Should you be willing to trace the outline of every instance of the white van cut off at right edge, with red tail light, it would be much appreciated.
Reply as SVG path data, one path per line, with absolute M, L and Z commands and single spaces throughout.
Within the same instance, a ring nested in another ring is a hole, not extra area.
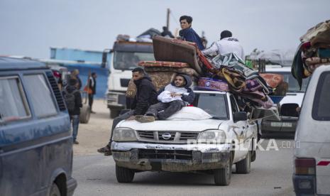
M 313 72 L 295 134 L 297 195 L 330 195 L 330 66 Z

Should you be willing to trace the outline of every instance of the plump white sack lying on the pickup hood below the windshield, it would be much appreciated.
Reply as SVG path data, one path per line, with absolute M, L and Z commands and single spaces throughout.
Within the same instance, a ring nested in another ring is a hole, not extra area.
M 204 120 L 211 119 L 209 115 L 203 109 L 199 107 L 183 107 L 180 111 L 177 111 L 172 116 L 168 117 L 167 120 L 180 121 L 180 120 Z

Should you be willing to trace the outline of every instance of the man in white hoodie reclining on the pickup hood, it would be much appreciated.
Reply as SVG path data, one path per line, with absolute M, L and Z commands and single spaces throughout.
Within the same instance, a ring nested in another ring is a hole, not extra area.
M 192 80 L 188 75 L 177 75 L 175 80 L 160 89 L 158 104 L 149 107 L 145 115 L 136 116 L 136 121 L 141 123 L 152 122 L 155 119 L 165 120 L 175 112 L 194 102 L 194 92 L 190 88 Z

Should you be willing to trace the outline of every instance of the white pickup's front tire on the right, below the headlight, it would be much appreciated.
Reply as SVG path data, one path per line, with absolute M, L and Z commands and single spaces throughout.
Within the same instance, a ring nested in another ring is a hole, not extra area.
M 226 186 L 231 183 L 231 166 L 232 160 L 231 156 L 229 157 L 229 164 L 225 168 L 214 170 L 214 183 L 220 186 Z

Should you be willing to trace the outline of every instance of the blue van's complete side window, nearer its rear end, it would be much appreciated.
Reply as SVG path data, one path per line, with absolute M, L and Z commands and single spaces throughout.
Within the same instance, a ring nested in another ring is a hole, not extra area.
M 26 89 L 31 92 L 31 102 L 35 115 L 38 117 L 53 116 L 57 114 L 52 92 L 42 74 L 24 75 Z

